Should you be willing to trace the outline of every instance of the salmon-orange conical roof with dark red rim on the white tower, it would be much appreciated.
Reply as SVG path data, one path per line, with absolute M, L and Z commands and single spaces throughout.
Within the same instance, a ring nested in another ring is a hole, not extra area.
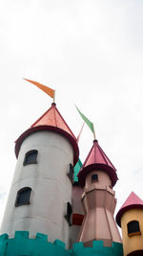
M 74 164 L 78 160 L 79 150 L 77 146 L 77 140 L 72 133 L 71 128 L 67 125 L 62 115 L 59 113 L 55 104 L 51 104 L 51 107 L 29 128 L 26 130 L 16 141 L 15 154 L 18 156 L 20 146 L 23 140 L 31 133 L 37 130 L 52 130 L 67 137 L 72 144 L 74 152 Z

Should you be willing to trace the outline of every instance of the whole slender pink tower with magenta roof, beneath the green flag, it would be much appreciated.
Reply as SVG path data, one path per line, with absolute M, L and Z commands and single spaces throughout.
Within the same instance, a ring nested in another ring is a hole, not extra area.
M 116 199 L 112 187 L 117 181 L 116 170 L 97 140 L 93 141 L 78 179 L 84 187 L 85 211 L 78 241 L 86 246 L 92 246 L 93 240 L 101 240 L 105 246 L 111 246 L 112 242 L 122 243 L 113 219 Z

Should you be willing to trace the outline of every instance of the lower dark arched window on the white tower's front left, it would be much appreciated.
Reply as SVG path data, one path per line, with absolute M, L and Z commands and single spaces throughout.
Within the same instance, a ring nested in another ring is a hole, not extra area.
M 22 188 L 17 192 L 15 206 L 30 204 L 31 188 Z

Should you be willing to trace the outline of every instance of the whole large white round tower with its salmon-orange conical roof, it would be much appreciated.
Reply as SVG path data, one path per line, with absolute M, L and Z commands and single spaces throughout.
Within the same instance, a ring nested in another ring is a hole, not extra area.
M 72 165 L 78 146 L 55 104 L 16 141 L 17 164 L 1 233 L 47 234 L 69 244 Z

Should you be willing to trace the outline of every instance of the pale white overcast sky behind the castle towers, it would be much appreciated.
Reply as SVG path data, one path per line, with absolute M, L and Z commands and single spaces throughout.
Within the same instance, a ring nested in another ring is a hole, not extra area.
M 134 191 L 143 198 L 143 1 L 0 1 L 0 220 L 16 159 L 14 141 L 51 106 L 22 78 L 56 89 L 57 108 L 75 135 L 94 123 L 117 169 L 116 209 Z M 79 143 L 84 161 L 92 132 Z

